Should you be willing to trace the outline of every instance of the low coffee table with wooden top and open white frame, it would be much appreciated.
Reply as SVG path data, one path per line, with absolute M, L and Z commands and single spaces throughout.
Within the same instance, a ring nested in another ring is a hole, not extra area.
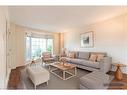
M 60 62 L 50 64 L 49 71 L 63 80 L 70 79 L 76 76 L 77 73 L 76 65 L 70 63 L 63 65 Z

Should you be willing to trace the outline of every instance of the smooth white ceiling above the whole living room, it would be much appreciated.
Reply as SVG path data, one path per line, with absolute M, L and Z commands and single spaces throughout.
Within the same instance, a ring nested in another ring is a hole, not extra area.
M 127 7 L 109 6 L 17 6 L 9 7 L 12 22 L 53 32 L 88 25 L 127 12 Z

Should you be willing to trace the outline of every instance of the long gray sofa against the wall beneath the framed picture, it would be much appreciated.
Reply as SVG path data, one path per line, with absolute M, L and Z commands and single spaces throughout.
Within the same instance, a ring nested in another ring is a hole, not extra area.
M 104 58 L 100 62 L 89 61 L 91 54 L 104 54 Z M 75 52 L 76 58 L 66 57 L 67 62 L 75 64 L 78 68 L 89 71 L 100 70 L 106 73 L 111 68 L 112 58 L 103 52 Z

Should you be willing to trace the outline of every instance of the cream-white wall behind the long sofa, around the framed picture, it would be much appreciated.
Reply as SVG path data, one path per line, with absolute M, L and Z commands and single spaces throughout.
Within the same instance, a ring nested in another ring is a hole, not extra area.
M 94 47 L 81 48 L 80 34 L 88 31 L 94 32 Z M 65 33 L 64 39 L 64 46 L 69 50 L 107 52 L 113 62 L 119 61 L 127 65 L 127 14 L 70 29 Z M 127 73 L 127 68 L 123 71 Z

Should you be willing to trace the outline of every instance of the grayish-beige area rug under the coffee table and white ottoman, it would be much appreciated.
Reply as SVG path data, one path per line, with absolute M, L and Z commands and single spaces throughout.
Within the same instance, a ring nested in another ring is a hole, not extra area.
M 38 64 L 37 66 L 42 66 L 42 64 Z M 43 67 L 43 66 L 42 66 Z M 47 68 L 45 66 L 44 68 Z M 79 78 L 83 77 L 86 74 L 89 74 L 91 72 L 83 70 L 83 69 L 77 69 L 77 76 L 72 77 L 68 80 L 62 80 L 59 77 L 55 76 L 54 74 L 50 73 L 50 80 L 49 84 L 42 83 L 37 86 L 37 89 L 43 90 L 43 89 L 79 89 Z M 21 70 L 21 82 L 18 86 L 18 89 L 34 89 L 34 85 L 32 81 L 28 78 L 28 75 L 26 73 L 26 69 Z

